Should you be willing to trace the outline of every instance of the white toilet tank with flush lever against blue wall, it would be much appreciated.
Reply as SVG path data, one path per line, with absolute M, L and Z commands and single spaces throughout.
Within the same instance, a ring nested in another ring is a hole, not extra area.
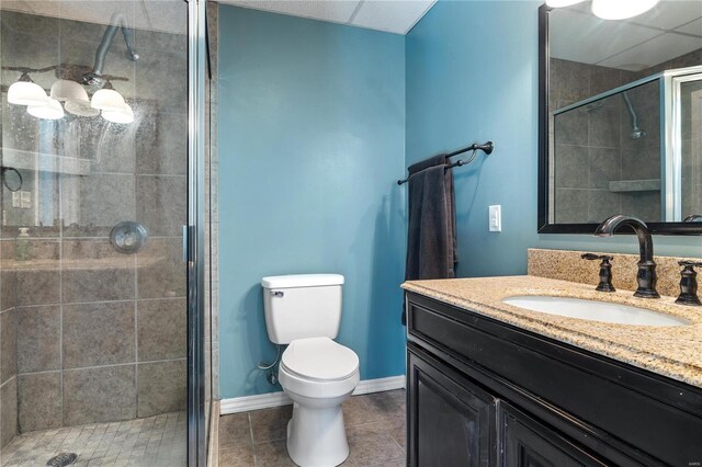
M 263 309 L 271 342 L 335 339 L 341 323 L 340 274 L 296 274 L 263 277 Z

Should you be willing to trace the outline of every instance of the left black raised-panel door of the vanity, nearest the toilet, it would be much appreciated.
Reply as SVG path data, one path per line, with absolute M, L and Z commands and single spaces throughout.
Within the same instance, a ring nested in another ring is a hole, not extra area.
M 410 466 L 495 465 L 496 412 L 489 394 L 448 365 L 412 351 L 408 385 Z

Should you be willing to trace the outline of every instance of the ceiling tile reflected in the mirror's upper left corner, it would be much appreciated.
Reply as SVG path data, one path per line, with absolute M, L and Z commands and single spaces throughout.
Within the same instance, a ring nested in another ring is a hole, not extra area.
M 548 26 L 552 57 L 584 64 L 597 64 L 660 35 L 657 30 L 601 20 L 571 9 L 554 10 Z

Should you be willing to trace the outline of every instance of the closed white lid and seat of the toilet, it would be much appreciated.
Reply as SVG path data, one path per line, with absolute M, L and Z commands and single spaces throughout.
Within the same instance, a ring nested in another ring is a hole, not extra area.
M 359 356 L 329 338 L 297 339 L 283 352 L 281 366 L 304 379 L 338 381 L 359 369 Z

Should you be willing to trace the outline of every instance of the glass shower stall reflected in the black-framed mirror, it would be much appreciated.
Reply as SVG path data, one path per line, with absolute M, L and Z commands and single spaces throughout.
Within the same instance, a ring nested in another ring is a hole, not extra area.
M 551 221 L 702 214 L 702 67 L 671 68 L 553 111 Z

